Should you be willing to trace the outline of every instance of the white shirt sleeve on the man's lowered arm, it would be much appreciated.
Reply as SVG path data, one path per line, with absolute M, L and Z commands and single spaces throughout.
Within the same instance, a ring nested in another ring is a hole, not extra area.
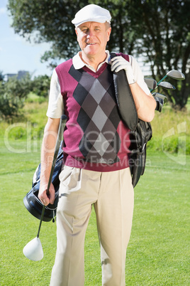
M 60 118 L 64 112 L 63 98 L 60 90 L 60 81 L 56 70 L 53 70 L 50 82 L 50 95 L 47 108 L 47 117 Z

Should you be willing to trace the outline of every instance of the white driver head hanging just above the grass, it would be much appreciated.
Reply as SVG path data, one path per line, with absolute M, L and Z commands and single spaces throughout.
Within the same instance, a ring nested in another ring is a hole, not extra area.
M 40 242 L 40 238 L 34 238 L 33 240 L 30 240 L 29 243 L 23 248 L 23 254 L 26 256 L 26 258 L 33 260 L 33 261 L 39 261 L 43 259 L 43 247 Z

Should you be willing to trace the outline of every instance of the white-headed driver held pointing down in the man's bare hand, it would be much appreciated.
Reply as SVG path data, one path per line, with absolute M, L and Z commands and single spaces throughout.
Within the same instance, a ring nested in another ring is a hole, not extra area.
M 52 159 L 52 167 L 51 167 L 51 171 L 50 171 L 50 178 L 47 184 L 47 194 L 50 190 L 50 184 L 52 182 L 52 174 L 55 168 L 55 162 L 57 159 L 57 154 L 60 148 L 60 142 L 62 141 L 62 134 L 63 131 L 65 129 L 65 125 L 67 122 L 67 116 L 66 115 L 62 115 L 62 117 L 60 118 L 60 126 L 58 129 L 58 133 L 57 133 L 57 141 L 55 144 L 55 152 L 54 152 L 54 156 Z M 26 258 L 33 260 L 33 261 L 38 261 L 38 260 L 42 260 L 43 259 L 43 247 L 42 244 L 40 242 L 40 228 L 41 228 L 41 224 L 43 221 L 43 215 L 44 215 L 44 211 L 45 211 L 45 205 L 43 206 L 43 211 L 41 214 L 41 218 L 40 218 L 40 225 L 38 228 L 38 234 L 37 237 L 34 238 L 33 240 L 30 240 L 29 243 L 27 243 L 27 245 L 23 248 L 23 254 L 26 256 Z

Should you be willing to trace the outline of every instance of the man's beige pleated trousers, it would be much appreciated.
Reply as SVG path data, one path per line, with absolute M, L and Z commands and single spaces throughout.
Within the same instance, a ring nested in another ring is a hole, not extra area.
M 125 286 L 134 205 L 130 169 L 101 173 L 68 166 L 60 174 L 51 286 L 84 286 L 84 238 L 93 204 L 101 245 L 102 285 Z

